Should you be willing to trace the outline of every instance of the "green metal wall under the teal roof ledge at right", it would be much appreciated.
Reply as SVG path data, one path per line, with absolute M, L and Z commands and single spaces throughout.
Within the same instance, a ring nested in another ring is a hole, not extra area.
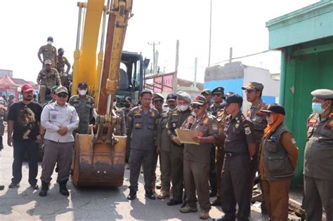
M 333 38 L 283 48 L 280 103 L 287 112 L 285 125 L 292 130 L 299 147 L 294 185 L 303 183 L 306 120 L 312 102 L 310 93 L 318 88 L 333 89 Z

